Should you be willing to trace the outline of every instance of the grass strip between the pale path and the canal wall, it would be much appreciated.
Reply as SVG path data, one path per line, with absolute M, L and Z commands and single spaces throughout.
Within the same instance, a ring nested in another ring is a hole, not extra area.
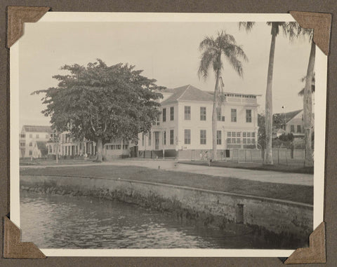
M 256 182 L 230 177 L 213 177 L 206 174 L 153 170 L 147 167 L 115 165 L 44 167 L 22 169 L 20 170 L 20 174 L 58 174 L 133 179 L 137 181 L 190 186 L 197 189 L 290 200 L 299 203 L 313 203 L 312 186 Z

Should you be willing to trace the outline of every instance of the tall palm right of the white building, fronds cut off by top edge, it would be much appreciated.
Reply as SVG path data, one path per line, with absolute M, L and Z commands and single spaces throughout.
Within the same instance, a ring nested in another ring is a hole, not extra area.
M 249 32 L 255 22 L 239 22 L 239 29 L 244 27 Z M 273 164 L 272 160 L 272 74 L 274 69 L 274 55 L 276 36 L 279 34 L 279 28 L 282 27 L 285 35 L 292 40 L 296 36 L 296 22 L 267 22 L 271 26 L 272 40 L 270 42 L 269 64 L 267 71 L 267 89 L 265 90 L 265 159 L 264 164 Z

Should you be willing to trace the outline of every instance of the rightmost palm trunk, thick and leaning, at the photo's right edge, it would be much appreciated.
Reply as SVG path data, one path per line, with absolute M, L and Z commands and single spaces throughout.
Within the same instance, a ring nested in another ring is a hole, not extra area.
M 316 45 L 312 41 L 307 76 L 305 78 L 305 88 L 303 96 L 303 119 L 304 119 L 304 139 L 305 139 L 305 167 L 312 167 L 312 76 L 314 75 Z

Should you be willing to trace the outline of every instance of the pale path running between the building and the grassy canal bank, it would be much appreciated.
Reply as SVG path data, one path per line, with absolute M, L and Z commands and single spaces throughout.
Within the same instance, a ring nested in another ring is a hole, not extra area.
M 71 166 L 89 166 L 89 165 L 121 165 L 121 166 L 139 166 L 149 167 L 151 169 L 170 170 L 174 172 L 191 172 L 197 174 L 207 174 L 218 177 L 232 177 L 237 179 L 247 179 L 259 182 L 270 182 L 277 184 L 300 184 L 313 186 L 313 174 L 299 174 L 290 172 L 275 172 L 271 170 L 244 170 L 230 167 L 208 167 L 201 165 L 175 164 L 173 160 L 116 160 L 105 163 L 81 163 L 72 165 L 39 165 L 22 166 L 31 167 L 71 167 Z

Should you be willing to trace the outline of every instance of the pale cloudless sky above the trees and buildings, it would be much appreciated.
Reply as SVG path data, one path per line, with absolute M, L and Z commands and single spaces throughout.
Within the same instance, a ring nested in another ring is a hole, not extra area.
M 20 128 L 50 124 L 50 118 L 41 114 L 43 95 L 31 93 L 56 86 L 53 75 L 67 74 L 60 70 L 64 64 L 86 65 L 100 58 L 108 65 L 136 65 L 144 76 L 167 88 L 192 84 L 201 90 L 214 90 L 212 69 L 206 80 L 197 75 L 199 43 L 220 30 L 232 34 L 249 58 L 243 64 L 243 78 L 224 60 L 225 92 L 261 95 L 258 104 L 263 111 L 271 40 L 265 22 L 256 23 L 251 32 L 239 30 L 237 22 L 37 22 L 25 24 L 19 43 Z M 277 36 L 274 113 L 303 108 L 298 91 L 304 87 L 300 78 L 305 76 L 309 54 L 308 39 L 290 42 L 282 32 Z

